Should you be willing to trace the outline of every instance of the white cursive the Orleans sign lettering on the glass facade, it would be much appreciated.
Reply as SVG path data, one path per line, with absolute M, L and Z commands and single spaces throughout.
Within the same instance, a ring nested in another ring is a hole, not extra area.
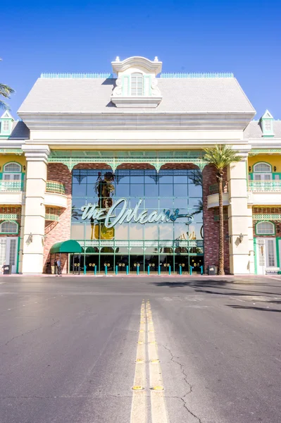
M 122 209 L 116 215 L 115 209 L 120 207 L 120 204 L 123 204 Z M 187 225 L 192 223 L 193 216 L 190 214 L 180 214 L 179 209 L 175 209 L 173 212 L 170 210 L 163 209 L 162 212 L 157 212 L 154 210 L 149 214 L 147 209 L 139 212 L 139 207 L 142 204 L 142 199 L 139 200 L 134 209 L 127 208 L 127 200 L 125 198 L 120 198 L 113 204 L 110 209 L 100 209 L 98 203 L 87 204 L 87 206 L 81 207 L 83 212 L 82 220 L 90 219 L 91 221 L 104 221 L 104 226 L 106 228 L 113 228 L 117 223 L 131 222 L 135 223 L 163 223 L 168 221 L 176 221 L 180 218 L 185 218 Z

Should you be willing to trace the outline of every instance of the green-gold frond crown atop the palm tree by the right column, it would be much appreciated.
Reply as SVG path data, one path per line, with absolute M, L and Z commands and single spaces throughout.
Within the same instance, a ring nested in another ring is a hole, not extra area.
M 242 157 L 239 156 L 239 152 L 227 145 L 216 145 L 216 147 L 213 148 L 206 148 L 204 152 L 204 160 L 207 161 L 208 164 L 213 164 L 218 171 L 223 171 L 229 164 L 242 160 Z

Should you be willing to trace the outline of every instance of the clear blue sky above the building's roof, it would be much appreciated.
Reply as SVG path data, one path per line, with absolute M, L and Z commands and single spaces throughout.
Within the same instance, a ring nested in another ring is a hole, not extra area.
M 111 72 L 115 56 L 163 72 L 233 72 L 281 119 L 281 1 L 12 1 L 1 5 L 0 80 L 12 114 L 42 72 Z

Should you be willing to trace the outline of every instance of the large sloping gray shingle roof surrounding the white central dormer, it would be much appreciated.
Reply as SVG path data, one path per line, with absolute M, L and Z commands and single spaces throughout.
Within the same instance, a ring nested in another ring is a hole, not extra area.
M 39 78 L 21 113 L 255 113 L 236 78 L 157 78 L 162 101 L 156 109 L 116 108 L 115 79 Z

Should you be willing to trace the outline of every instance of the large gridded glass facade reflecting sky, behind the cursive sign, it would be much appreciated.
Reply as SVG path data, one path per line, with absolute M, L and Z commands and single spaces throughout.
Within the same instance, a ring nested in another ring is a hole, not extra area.
M 149 267 L 184 273 L 189 266 L 198 271 L 204 257 L 201 181 L 197 170 L 125 169 L 113 175 L 108 169 L 74 169 L 71 238 L 83 254 L 70 257 L 70 271 L 77 266 L 87 272 L 147 272 Z M 104 220 L 84 219 L 82 207 L 96 204 L 96 212 L 104 209 L 106 215 L 118 200 L 109 222 L 130 209 L 135 210 L 131 219 L 111 228 Z

